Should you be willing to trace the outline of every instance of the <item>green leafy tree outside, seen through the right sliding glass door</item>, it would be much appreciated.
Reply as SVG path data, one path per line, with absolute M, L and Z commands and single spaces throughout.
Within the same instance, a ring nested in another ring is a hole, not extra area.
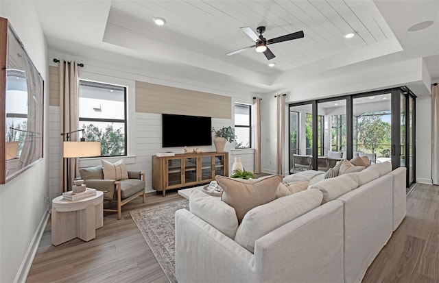
M 391 138 L 390 123 L 383 122 L 381 115 L 359 116 L 357 121 L 357 151 L 367 149 L 376 153 L 388 149 Z

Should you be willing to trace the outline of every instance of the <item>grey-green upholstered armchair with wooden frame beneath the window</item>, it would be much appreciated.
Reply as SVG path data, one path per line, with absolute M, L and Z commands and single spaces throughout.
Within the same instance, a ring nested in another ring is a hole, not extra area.
M 145 173 L 128 171 L 126 180 L 104 180 L 102 166 L 80 169 L 81 178 L 88 188 L 95 188 L 104 192 L 104 200 L 117 202 L 117 209 L 104 208 L 104 211 L 117 212 L 117 219 L 121 219 L 121 207 L 136 197 L 142 197 L 145 202 Z M 111 207 L 111 204 L 110 204 Z

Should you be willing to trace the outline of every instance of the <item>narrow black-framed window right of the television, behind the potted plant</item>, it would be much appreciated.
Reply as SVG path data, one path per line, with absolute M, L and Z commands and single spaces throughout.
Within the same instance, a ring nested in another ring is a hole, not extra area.
M 248 149 L 252 147 L 252 108 L 245 104 L 235 104 L 235 135 L 236 149 Z

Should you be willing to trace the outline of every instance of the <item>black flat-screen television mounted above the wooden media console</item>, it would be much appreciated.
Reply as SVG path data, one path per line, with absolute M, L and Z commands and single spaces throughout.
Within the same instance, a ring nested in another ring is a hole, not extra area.
M 211 117 L 162 114 L 162 147 L 212 145 L 211 129 Z

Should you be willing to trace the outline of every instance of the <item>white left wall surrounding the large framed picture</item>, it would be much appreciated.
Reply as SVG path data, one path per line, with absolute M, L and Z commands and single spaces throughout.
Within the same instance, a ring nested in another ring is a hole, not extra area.
M 7 18 L 45 81 L 44 129 L 48 129 L 47 44 L 32 1 L 0 1 Z M 3 42 L 1 42 L 3 44 Z M 44 140 L 48 139 L 47 130 Z M 33 167 L 0 186 L 0 282 L 24 281 L 44 229 L 49 205 L 49 147 Z

